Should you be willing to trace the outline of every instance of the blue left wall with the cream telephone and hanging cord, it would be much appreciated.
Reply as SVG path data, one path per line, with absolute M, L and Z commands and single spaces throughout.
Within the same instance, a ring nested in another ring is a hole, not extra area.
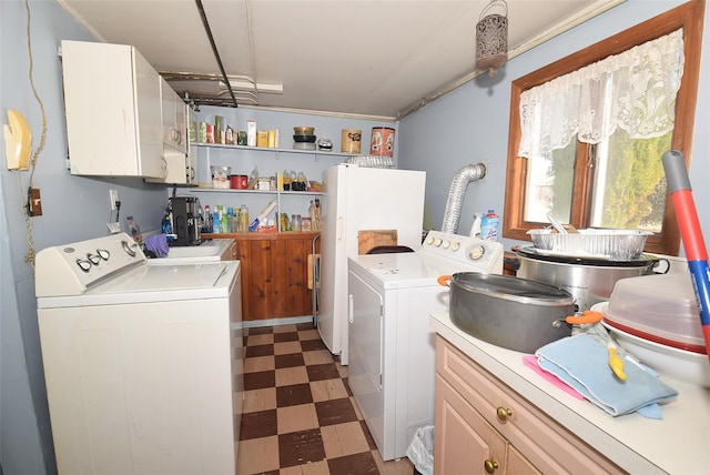
M 67 133 L 58 47 L 62 39 L 91 41 L 93 38 L 58 3 L 30 1 L 29 4 L 32 75 L 47 121 L 45 144 L 37 160 L 33 176 L 33 185 L 41 191 L 43 212 L 42 216 L 32 220 L 33 249 L 39 251 L 51 245 L 105 235 L 110 221 L 109 188 L 119 191 L 124 230 L 128 214 L 133 214 L 144 228 L 150 228 L 153 222 L 159 223 L 161 210 L 166 203 L 164 185 L 144 184 L 142 180 L 73 176 L 67 170 Z M 29 81 L 26 2 L 1 1 L 0 22 L 2 123 L 7 123 L 8 109 L 20 111 L 32 129 L 32 145 L 37 148 L 42 134 L 42 113 Z M 102 131 L 88 131 L 97 132 Z M 54 473 L 34 280 L 32 266 L 24 261 L 29 244 L 22 206 L 30 173 L 8 171 L 4 141 L 2 150 L 0 462 L 6 474 Z M 18 179 L 22 182 L 21 188 Z

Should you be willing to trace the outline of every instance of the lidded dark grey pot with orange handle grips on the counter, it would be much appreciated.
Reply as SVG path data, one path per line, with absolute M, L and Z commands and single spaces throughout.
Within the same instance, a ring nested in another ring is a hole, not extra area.
M 443 279 L 443 277 L 442 277 Z M 572 295 L 510 275 L 462 272 L 449 277 L 449 317 L 471 336 L 524 353 L 571 334 Z

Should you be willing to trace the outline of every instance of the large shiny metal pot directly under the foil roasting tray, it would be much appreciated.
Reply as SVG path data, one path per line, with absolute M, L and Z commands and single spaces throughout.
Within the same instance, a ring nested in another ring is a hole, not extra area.
M 518 247 L 516 254 L 517 276 L 567 290 L 580 312 L 608 301 L 620 279 L 653 274 L 659 263 L 658 257 L 647 254 L 631 261 L 542 254 L 535 247 Z

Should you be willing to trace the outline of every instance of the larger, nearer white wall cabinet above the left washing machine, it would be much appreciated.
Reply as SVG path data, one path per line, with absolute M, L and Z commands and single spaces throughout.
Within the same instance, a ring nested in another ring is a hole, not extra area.
M 62 41 L 71 173 L 165 178 L 161 78 L 135 48 Z

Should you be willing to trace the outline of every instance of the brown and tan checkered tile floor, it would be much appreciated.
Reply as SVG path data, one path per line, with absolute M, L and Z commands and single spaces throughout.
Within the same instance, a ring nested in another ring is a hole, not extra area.
M 311 323 L 244 330 L 239 475 L 412 475 L 383 462 L 347 386 L 347 366 Z

